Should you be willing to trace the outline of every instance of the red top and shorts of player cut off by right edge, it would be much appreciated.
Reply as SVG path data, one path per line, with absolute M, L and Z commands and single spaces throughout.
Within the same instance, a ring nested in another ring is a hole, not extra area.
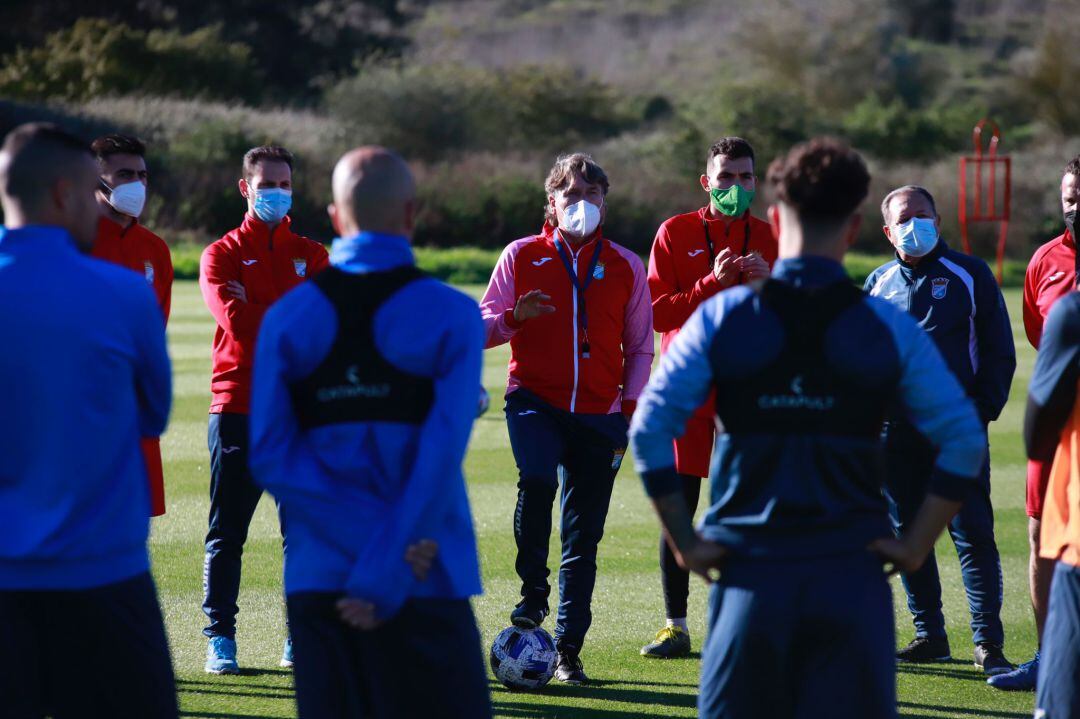
M 1024 331 L 1036 350 L 1042 337 L 1042 323 L 1050 308 L 1072 291 L 1076 282 L 1077 246 L 1066 230 L 1035 250 L 1024 273 Z M 1040 518 L 1050 481 L 1051 463 L 1027 462 L 1027 515 Z

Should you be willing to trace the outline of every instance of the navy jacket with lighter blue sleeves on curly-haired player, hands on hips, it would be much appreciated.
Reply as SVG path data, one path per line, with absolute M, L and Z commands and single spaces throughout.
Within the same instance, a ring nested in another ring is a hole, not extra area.
M 822 257 L 781 260 L 773 279 L 806 290 L 848 282 L 838 262 Z M 730 426 L 716 438 L 701 530 L 737 554 L 825 556 L 890 537 L 880 426 L 893 403 L 940 448 L 931 491 L 964 496 L 986 458 L 986 435 L 941 354 L 908 315 L 861 296 L 827 325 L 816 369 L 808 370 L 832 378 L 829 396 L 812 396 L 811 375 L 804 378 L 797 360 L 792 363 L 807 348 L 787 344 L 785 322 L 791 317 L 779 316 L 747 287 L 720 293 L 687 321 L 631 426 L 634 460 L 650 494 L 677 490 L 672 440 L 715 384 L 719 418 Z M 748 382 L 768 382 L 770 368 L 785 362 L 793 376 L 781 377 L 775 392 L 743 396 Z M 842 431 L 812 421 L 771 423 L 770 411 L 785 408 L 806 416 L 821 409 Z M 747 428 L 740 426 L 744 417 Z

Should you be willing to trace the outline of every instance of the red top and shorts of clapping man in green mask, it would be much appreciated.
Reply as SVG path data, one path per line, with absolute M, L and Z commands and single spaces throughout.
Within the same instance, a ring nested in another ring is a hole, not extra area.
M 725 247 L 735 255 L 757 252 L 771 268 L 779 252 L 768 222 L 750 213 L 740 219 L 714 220 L 708 207 L 676 215 L 657 230 L 649 256 L 649 291 L 652 326 L 662 333 L 660 352 L 678 335 L 698 306 L 720 291 L 713 274 L 713 259 Z M 707 228 L 707 239 L 706 239 Z M 708 241 L 713 249 L 710 252 Z M 712 255 L 712 257 L 711 257 Z M 713 452 L 713 402 L 710 399 L 687 422 L 686 433 L 675 440 L 675 469 L 696 477 L 708 475 Z

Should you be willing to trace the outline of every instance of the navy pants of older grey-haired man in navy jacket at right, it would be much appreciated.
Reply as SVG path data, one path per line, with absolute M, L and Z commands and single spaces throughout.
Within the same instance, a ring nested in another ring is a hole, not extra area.
M 886 494 L 889 514 L 897 533 L 904 531 L 927 498 L 935 455 L 921 437 L 910 436 L 912 430 L 892 429 L 886 442 Z M 971 610 L 971 630 L 975 643 L 1004 645 L 1001 626 L 1001 602 L 1004 588 L 1001 559 L 994 540 L 994 507 L 990 504 L 990 466 L 983 467 L 978 483 L 972 487 L 963 505 L 948 525 L 949 535 L 960 557 L 960 572 Z M 942 612 L 942 587 L 937 560 L 931 552 L 926 564 L 910 574 L 903 574 L 907 607 L 915 621 L 918 636 L 944 638 L 945 615 Z

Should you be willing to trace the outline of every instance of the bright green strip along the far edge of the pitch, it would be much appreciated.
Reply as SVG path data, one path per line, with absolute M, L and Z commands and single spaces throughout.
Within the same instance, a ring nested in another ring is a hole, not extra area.
M 176 245 L 173 250 L 173 270 L 177 280 L 195 280 L 199 277 L 199 255 L 202 245 L 186 242 Z M 424 272 L 455 285 L 485 285 L 491 276 L 491 270 L 499 261 L 499 249 L 483 247 L 417 247 L 417 264 Z M 642 258 L 648 261 L 648 258 Z M 864 255 L 849 253 L 845 258 L 845 267 L 851 280 L 862 284 L 866 275 L 876 268 L 889 261 L 886 255 Z M 994 266 L 991 264 L 991 269 Z M 1004 286 L 1021 287 L 1024 284 L 1026 264 L 1018 260 L 1005 260 Z

